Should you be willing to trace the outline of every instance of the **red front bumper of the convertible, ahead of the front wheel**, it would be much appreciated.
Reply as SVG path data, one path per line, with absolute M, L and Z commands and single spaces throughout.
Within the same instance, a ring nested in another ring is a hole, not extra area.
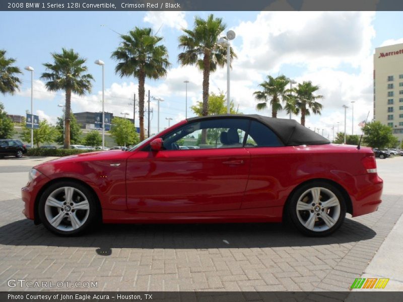
M 28 182 L 25 187 L 21 189 L 22 201 L 24 202 L 24 209 L 22 213 L 28 219 L 35 219 L 35 200 L 38 193 L 43 186 L 49 182 L 50 179 L 43 174 L 39 174 L 33 181 Z

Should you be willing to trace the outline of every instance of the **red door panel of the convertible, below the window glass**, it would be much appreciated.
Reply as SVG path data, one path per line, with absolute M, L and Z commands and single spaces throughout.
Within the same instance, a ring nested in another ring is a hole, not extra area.
M 139 212 L 239 209 L 250 155 L 245 148 L 140 151 L 127 161 L 127 206 Z

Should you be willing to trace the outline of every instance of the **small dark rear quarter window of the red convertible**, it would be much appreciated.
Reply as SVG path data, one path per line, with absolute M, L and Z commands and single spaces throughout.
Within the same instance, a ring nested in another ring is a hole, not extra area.
M 245 147 L 278 147 L 284 146 L 277 135 L 267 126 L 260 122 L 250 123 L 249 134 Z

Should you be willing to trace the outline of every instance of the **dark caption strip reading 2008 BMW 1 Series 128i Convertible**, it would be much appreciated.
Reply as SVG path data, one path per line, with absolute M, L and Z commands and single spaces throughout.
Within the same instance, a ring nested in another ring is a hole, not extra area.
M 402 11 L 392 0 L 20 0 L 0 11 Z

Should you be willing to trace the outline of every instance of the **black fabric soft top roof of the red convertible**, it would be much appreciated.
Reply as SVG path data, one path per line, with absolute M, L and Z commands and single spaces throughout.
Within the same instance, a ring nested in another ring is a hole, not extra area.
M 272 129 L 286 146 L 330 143 L 330 141 L 322 135 L 315 133 L 292 119 L 273 118 L 258 114 L 229 114 L 192 117 L 188 118 L 187 121 L 195 122 L 217 118 L 245 118 L 259 121 Z

